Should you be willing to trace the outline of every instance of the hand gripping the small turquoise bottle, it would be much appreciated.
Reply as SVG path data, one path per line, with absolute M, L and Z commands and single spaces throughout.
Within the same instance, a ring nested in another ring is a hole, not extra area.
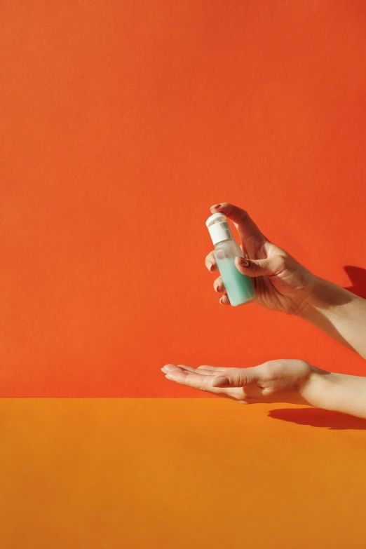
M 301 313 L 312 299 L 316 276 L 272 244 L 244 210 L 225 202 L 212 206 L 211 211 L 223 213 L 236 225 L 246 259 L 236 258 L 236 267 L 240 273 L 253 278 L 257 303 L 272 311 Z M 210 272 L 217 271 L 213 251 L 206 257 L 205 265 Z M 225 291 L 221 277 L 215 280 L 214 287 L 217 292 Z M 220 303 L 230 304 L 227 294 Z

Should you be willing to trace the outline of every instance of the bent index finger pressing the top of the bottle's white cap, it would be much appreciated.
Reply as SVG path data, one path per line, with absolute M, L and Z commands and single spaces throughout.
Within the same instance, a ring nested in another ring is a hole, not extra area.
M 251 249 L 253 251 L 267 241 L 267 238 L 259 230 L 259 227 L 252 220 L 248 212 L 238 208 L 238 206 L 223 202 L 222 204 L 211 206 L 210 209 L 214 213 L 223 213 L 231 219 L 238 229 L 245 250 L 248 250 L 249 253 Z

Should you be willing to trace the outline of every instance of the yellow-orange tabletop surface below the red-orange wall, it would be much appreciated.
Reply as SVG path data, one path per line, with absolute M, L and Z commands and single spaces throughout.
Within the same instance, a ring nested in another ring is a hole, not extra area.
M 219 399 L 0 407 L 1 549 L 366 547 L 366 421 Z

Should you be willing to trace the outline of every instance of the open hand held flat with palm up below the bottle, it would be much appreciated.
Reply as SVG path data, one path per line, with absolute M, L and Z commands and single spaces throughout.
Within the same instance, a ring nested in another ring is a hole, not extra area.
M 168 364 L 161 370 L 170 381 L 243 404 L 289 402 L 317 406 L 320 379 L 332 375 L 303 360 L 271 360 L 250 368 L 195 369 Z

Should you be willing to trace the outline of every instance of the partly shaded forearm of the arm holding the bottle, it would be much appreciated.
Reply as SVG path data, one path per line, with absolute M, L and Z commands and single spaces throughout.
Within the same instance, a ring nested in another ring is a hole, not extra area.
M 366 358 L 366 300 L 316 279 L 313 297 L 299 316 Z

